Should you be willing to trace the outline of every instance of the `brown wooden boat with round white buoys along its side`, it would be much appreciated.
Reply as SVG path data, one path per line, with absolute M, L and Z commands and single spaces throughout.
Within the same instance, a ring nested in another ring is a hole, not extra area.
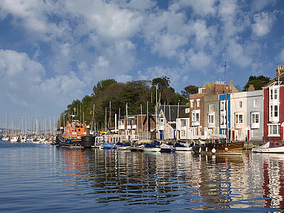
M 225 140 L 209 140 L 195 143 L 192 151 L 197 154 L 216 154 L 216 155 L 241 155 L 243 153 L 244 142 L 226 141 Z

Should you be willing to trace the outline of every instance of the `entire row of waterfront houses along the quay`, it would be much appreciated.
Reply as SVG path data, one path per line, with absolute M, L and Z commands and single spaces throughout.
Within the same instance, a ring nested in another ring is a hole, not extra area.
M 250 85 L 239 92 L 232 81 L 204 84 L 187 105 L 160 105 L 155 115 L 121 116 L 119 133 L 152 140 L 283 141 L 283 72 L 278 65 L 275 79 L 262 90 Z

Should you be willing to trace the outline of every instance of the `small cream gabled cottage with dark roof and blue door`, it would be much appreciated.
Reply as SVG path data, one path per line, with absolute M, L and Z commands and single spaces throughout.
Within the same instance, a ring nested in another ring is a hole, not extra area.
M 158 111 L 158 139 L 171 140 L 176 138 L 176 119 L 186 105 L 161 105 Z

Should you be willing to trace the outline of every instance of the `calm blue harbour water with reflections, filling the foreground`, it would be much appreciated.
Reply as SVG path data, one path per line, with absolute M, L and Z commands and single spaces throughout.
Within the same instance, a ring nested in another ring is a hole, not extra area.
M 0 141 L 0 212 L 280 212 L 283 198 L 284 155 Z

